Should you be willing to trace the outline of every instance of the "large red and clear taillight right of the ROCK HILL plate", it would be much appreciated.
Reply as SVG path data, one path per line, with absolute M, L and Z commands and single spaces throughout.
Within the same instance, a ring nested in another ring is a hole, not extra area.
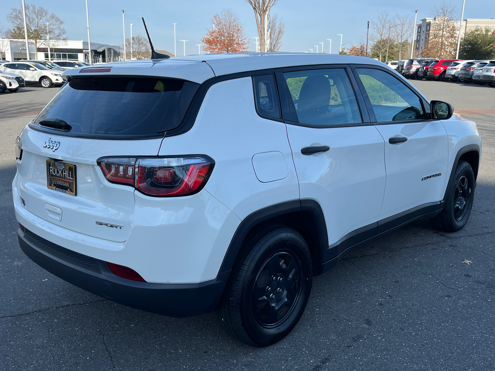
M 104 157 L 97 161 L 112 183 L 134 185 L 152 196 L 185 196 L 199 192 L 213 171 L 204 155 L 181 157 Z

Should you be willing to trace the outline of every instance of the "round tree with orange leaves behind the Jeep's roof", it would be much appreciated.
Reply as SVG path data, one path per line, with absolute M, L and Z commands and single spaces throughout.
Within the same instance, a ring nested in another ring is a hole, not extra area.
M 237 53 L 247 51 L 249 42 L 237 15 L 223 9 L 211 19 L 212 28 L 201 39 L 206 53 Z

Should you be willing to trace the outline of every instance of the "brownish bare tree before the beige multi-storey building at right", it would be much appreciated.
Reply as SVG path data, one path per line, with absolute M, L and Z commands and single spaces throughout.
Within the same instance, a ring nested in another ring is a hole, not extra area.
M 449 59 L 455 56 L 459 24 L 456 22 L 457 10 L 451 2 L 442 1 L 433 8 L 434 21 L 421 56 Z M 428 36 L 428 35 L 427 35 Z

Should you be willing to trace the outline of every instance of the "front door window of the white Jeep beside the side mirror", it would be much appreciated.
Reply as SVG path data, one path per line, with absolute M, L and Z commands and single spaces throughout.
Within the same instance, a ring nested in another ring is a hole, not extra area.
M 391 74 L 374 68 L 356 68 L 377 122 L 424 120 L 419 97 Z

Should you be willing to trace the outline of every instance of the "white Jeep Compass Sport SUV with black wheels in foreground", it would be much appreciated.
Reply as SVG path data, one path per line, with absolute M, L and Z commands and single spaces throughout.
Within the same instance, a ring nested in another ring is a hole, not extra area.
M 469 218 L 476 125 L 371 58 L 207 54 L 64 74 L 16 142 L 19 243 L 116 302 L 216 310 L 266 346 L 351 248 Z

